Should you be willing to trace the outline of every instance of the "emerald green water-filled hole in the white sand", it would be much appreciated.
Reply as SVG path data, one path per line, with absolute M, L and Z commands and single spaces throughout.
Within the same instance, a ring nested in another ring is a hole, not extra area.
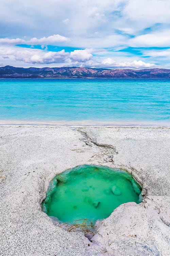
M 63 223 L 72 224 L 85 218 L 94 225 L 120 204 L 141 200 L 141 187 L 128 172 L 82 165 L 54 177 L 42 209 Z

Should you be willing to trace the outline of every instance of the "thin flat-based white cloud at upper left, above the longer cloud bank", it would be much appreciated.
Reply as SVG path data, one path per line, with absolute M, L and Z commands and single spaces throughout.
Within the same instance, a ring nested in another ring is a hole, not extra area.
M 31 44 L 31 45 L 56 45 L 60 42 L 69 42 L 70 39 L 64 37 L 63 35 L 54 34 L 50 35 L 49 37 L 42 37 L 40 39 L 34 37 L 30 40 L 16 38 L 16 39 L 9 39 L 9 38 L 0 38 L 0 44 L 3 45 L 16 45 L 16 44 Z

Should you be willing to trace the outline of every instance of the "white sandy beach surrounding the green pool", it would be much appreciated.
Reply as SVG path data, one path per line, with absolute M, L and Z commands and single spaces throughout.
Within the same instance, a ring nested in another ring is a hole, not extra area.
M 0 255 L 169 256 L 169 155 L 169 127 L 1 126 Z M 145 197 L 99 222 L 92 242 L 41 211 L 55 174 L 82 164 L 131 172 Z

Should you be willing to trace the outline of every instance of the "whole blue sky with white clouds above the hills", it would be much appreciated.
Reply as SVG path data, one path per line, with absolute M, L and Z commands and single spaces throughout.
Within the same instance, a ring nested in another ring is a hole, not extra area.
M 0 0 L 0 66 L 170 68 L 170 0 Z

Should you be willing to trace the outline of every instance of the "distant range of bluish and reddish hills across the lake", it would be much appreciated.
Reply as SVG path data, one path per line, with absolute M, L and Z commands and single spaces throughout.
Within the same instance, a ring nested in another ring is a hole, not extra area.
M 15 68 L 0 67 L 0 78 L 170 78 L 170 69 Z

